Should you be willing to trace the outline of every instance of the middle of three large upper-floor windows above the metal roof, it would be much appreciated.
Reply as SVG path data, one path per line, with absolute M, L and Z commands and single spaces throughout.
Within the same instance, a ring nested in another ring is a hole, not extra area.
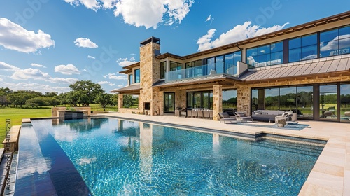
M 290 39 L 288 41 L 288 57 L 289 62 L 317 58 L 317 34 Z

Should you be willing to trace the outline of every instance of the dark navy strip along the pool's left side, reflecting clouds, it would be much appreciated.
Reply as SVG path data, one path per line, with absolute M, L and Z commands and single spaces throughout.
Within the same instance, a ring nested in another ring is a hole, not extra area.
M 15 195 L 92 195 L 51 134 L 22 127 Z

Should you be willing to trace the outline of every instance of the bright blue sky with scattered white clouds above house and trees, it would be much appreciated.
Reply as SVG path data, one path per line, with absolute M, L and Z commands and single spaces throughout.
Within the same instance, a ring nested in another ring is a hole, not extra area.
M 2 0 L 0 87 L 67 92 L 92 80 L 127 85 L 139 43 L 189 55 L 348 11 L 350 1 Z

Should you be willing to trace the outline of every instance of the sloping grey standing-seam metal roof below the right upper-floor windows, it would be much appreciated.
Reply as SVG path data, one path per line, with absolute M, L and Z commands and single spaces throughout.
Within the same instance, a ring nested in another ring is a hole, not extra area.
M 350 71 L 350 55 L 339 55 L 303 62 L 249 69 L 249 71 L 239 77 L 239 79 L 247 82 L 254 80 L 273 80 L 278 78 L 308 76 L 318 73 L 334 73 L 337 71 Z

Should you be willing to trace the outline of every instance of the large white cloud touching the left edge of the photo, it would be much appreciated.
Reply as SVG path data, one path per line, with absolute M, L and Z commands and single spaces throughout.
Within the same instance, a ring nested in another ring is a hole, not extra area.
M 49 34 L 41 30 L 37 34 L 28 31 L 7 18 L 0 18 L 0 32 L 0 45 L 10 50 L 29 53 L 55 46 L 55 41 Z

